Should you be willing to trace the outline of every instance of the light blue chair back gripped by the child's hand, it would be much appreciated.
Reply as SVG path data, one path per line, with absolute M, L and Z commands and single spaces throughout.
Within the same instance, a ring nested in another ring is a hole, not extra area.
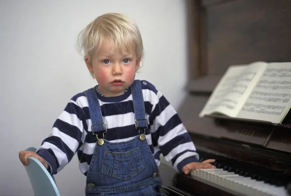
M 36 151 L 36 148 L 30 147 L 27 150 Z M 60 196 L 60 192 L 45 166 L 36 158 L 28 157 L 29 164 L 25 166 L 27 175 L 32 184 L 35 196 Z

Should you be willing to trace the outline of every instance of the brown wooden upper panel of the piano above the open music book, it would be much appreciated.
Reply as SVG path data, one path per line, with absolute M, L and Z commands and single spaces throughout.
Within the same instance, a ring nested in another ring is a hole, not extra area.
M 203 75 L 221 75 L 233 64 L 290 60 L 290 0 L 201 0 L 200 5 Z

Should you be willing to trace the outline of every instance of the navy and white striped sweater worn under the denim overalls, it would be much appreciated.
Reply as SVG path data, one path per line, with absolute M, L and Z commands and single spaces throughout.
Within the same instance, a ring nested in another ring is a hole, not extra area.
M 199 159 L 194 143 L 162 93 L 148 81 L 143 80 L 141 84 L 148 121 L 146 141 L 154 159 L 160 165 L 162 153 L 165 160 L 171 161 L 174 169 L 181 172 L 184 165 Z M 104 139 L 124 142 L 138 135 L 130 89 L 116 97 L 104 97 L 97 92 L 97 97 L 107 125 Z M 97 142 L 91 125 L 88 101 L 81 92 L 70 99 L 53 124 L 51 134 L 37 149 L 37 154 L 49 163 L 51 174 L 60 172 L 76 153 L 81 172 L 87 174 Z

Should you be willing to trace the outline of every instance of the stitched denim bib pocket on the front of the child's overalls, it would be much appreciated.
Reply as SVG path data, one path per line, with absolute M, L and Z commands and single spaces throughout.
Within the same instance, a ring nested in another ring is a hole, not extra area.
M 129 180 L 146 168 L 138 147 L 126 152 L 105 150 L 101 173 L 121 180 Z

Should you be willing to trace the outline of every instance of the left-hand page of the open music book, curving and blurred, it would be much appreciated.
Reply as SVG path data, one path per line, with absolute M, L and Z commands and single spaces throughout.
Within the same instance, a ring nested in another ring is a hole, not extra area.
M 236 117 L 266 66 L 264 62 L 230 66 L 211 93 L 199 117 L 214 113 Z

